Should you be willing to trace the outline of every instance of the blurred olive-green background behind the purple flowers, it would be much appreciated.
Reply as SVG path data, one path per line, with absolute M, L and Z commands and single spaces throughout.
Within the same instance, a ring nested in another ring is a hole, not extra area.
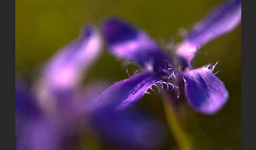
M 178 34 L 181 28 L 192 27 L 220 2 L 222 1 L 16 1 L 16 74 L 28 82 L 31 81 L 29 79 L 37 78 L 35 72 L 38 72 L 38 67 L 59 48 L 76 38 L 84 25 L 99 26 L 105 17 L 123 17 L 161 44 L 170 39 L 181 40 Z M 200 130 L 196 131 L 198 133 L 194 138 L 198 141 L 198 149 L 205 149 L 205 143 L 211 145 L 207 149 L 240 149 L 241 25 L 228 35 L 211 41 L 201 51 L 208 55 L 197 55 L 194 67 L 219 61 L 218 70 L 223 71 L 217 76 L 224 82 L 230 97 L 218 114 L 197 114 L 198 119 L 195 121 L 200 125 Z M 112 84 L 127 78 L 121 64 L 122 61 L 104 50 L 100 59 L 86 74 L 84 83 L 106 80 Z M 146 95 L 137 105 L 149 110 L 166 124 L 160 96 Z M 91 149 L 104 149 L 104 146 L 94 145 Z M 170 133 L 162 149 L 178 149 Z

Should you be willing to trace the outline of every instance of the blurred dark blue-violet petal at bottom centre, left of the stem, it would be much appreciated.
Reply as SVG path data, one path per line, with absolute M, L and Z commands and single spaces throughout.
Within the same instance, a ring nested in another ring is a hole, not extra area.
M 159 121 L 135 109 L 99 111 L 92 124 L 104 143 L 120 149 L 157 149 L 166 132 Z

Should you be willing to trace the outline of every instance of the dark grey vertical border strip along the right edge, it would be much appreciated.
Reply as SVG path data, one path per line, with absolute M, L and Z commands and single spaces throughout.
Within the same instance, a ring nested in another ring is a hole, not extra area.
M 246 3 L 245 3 L 246 2 Z M 250 4 L 251 2 L 251 4 Z M 242 121 L 241 140 L 242 149 L 255 149 L 255 106 L 256 101 L 252 96 L 255 93 L 253 82 L 255 65 L 255 1 L 242 0 Z M 249 18 L 250 17 L 250 18 Z M 248 18 L 248 19 L 246 19 Z M 254 30 L 253 30 L 254 29 Z M 249 71 L 250 70 L 250 71 Z M 251 97 L 252 96 L 252 97 Z

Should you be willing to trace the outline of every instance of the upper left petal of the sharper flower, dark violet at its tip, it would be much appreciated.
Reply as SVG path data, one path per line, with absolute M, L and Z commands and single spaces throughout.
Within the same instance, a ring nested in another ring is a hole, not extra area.
M 171 62 L 150 37 L 121 19 L 105 20 L 102 32 L 110 52 L 116 57 L 135 61 L 151 71 L 163 67 L 164 60 Z

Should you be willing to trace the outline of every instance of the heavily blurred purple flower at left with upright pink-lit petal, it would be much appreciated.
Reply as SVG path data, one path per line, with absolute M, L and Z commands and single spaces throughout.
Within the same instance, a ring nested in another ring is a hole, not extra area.
M 99 32 L 87 26 L 46 64 L 33 90 L 16 82 L 16 149 L 63 149 L 63 140 L 77 133 L 86 119 L 78 106 L 89 100 L 75 100 L 76 88 L 100 50 Z

